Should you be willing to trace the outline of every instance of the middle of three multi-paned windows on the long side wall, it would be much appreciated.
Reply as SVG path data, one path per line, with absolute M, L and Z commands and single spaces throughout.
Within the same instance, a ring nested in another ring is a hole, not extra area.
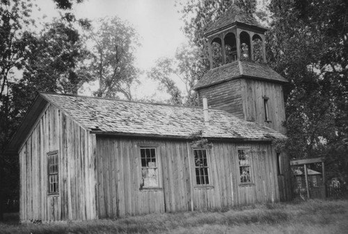
M 209 185 L 207 150 L 194 149 L 193 154 L 195 157 L 196 184 Z

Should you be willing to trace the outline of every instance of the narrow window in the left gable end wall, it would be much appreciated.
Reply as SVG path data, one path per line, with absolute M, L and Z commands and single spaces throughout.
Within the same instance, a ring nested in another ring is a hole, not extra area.
M 48 193 L 58 193 L 58 151 L 48 153 Z

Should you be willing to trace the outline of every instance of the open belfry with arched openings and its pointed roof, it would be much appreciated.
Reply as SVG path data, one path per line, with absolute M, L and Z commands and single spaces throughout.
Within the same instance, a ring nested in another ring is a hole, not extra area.
M 210 68 L 237 60 L 266 63 L 265 31 L 267 29 L 260 26 L 252 16 L 232 4 L 205 33 L 209 42 Z M 219 64 L 216 60 L 223 62 Z

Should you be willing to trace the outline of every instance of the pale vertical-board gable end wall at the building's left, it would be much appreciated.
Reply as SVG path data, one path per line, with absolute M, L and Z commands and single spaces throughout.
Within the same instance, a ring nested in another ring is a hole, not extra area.
M 20 219 L 95 219 L 95 135 L 48 105 L 19 151 Z M 58 151 L 59 193 L 48 194 L 47 153 Z

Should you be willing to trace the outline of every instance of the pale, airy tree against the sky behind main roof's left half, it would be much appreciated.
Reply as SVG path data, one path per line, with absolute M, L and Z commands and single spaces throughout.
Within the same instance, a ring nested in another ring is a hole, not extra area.
M 90 32 L 93 40 L 91 71 L 99 81 L 98 97 L 119 97 L 131 100 L 130 87 L 139 69 L 134 67 L 134 52 L 139 37 L 132 26 L 118 17 L 100 19 Z

